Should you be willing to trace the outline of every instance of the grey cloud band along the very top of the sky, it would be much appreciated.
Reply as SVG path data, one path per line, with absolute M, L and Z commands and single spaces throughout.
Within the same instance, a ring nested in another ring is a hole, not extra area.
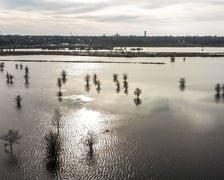
M 93 1 L 94 2 L 94 1 Z M 11 9 L 31 10 L 31 11 L 52 11 L 57 13 L 88 13 L 105 8 L 116 8 L 117 6 L 135 6 L 142 9 L 156 9 L 176 4 L 186 3 L 203 3 L 224 5 L 223 0 L 109 0 L 97 3 L 80 2 L 49 2 L 45 0 L 1 0 L 0 6 Z M 116 9 L 115 9 L 116 10 Z

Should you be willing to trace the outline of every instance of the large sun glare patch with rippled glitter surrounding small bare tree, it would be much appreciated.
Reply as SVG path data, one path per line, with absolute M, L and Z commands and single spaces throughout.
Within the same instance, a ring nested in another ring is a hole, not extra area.
M 112 129 L 116 119 L 117 117 L 110 113 L 89 107 L 68 113 L 61 131 L 61 169 L 66 171 L 65 173 L 85 174 L 89 173 L 88 168 L 97 166 L 100 161 L 99 153 L 116 139 L 110 139 L 113 137 Z M 107 133 L 105 130 L 108 130 Z M 89 143 L 91 138 L 92 147 Z

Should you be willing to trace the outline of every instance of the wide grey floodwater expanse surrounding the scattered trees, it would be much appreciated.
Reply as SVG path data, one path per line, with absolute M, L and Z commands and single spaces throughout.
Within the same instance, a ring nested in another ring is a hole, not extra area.
M 124 61 L 125 58 L 7 56 L 0 60 Z M 20 144 L 0 141 L 0 179 L 223 179 L 223 58 L 131 58 L 164 65 L 5 62 L 0 72 L 0 134 L 18 129 Z M 24 69 L 29 67 L 29 84 Z M 68 76 L 58 98 L 57 78 Z M 6 83 L 6 72 L 14 83 Z M 91 75 L 90 88 L 84 76 Z M 101 81 L 97 91 L 92 76 Z M 120 91 L 113 82 L 119 74 Z M 124 93 L 123 73 L 128 74 Z M 184 90 L 179 79 L 186 79 Z M 141 104 L 134 91 L 140 88 Z M 16 95 L 22 106 L 16 106 Z M 55 109 L 60 126 L 53 123 Z M 46 137 L 53 132 L 59 150 Z M 92 140 L 92 149 L 88 140 Z M 53 154 L 53 155 L 52 155 Z

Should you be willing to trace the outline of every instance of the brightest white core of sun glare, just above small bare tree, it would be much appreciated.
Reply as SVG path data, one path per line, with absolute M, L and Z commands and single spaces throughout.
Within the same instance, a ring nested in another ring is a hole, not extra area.
M 89 132 L 98 136 L 105 129 L 111 129 L 110 121 L 114 118 L 110 114 L 83 107 L 69 113 L 66 119 L 64 126 L 65 144 L 71 148 L 70 150 L 74 150 L 74 147 L 71 146 L 82 144 L 82 140 Z

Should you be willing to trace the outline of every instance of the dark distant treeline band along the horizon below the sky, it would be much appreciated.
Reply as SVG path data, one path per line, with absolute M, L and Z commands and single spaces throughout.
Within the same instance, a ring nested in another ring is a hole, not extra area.
M 224 36 L 0 35 L 0 48 L 224 47 Z

